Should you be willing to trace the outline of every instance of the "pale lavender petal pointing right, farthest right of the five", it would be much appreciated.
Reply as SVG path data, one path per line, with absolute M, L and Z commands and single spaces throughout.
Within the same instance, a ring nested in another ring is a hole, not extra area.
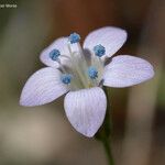
M 153 66 L 139 57 L 120 55 L 112 58 L 105 68 L 105 86 L 129 87 L 154 76 Z

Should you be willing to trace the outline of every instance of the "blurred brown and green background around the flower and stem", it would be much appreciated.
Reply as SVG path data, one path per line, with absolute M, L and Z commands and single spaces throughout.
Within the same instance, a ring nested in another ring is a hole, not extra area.
M 117 165 L 165 164 L 164 0 L 0 0 L 0 165 L 106 165 L 102 145 L 67 121 L 63 97 L 36 108 L 19 106 L 26 79 L 44 65 L 38 55 L 56 37 L 114 25 L 128 42 L 118 54 L 147 59 L 155 77 L 110 89 Z

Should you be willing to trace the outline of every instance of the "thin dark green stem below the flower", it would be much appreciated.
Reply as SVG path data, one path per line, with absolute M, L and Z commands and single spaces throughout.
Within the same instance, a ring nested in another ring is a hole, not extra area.
M 108 91 L 108 88 L 106 88 L 106 87 L 103 89 L 107 95 L 107 102 L 108 102 L 107 103 L 107 112 L 106 112 L 106 118 L 105 118 L 103 124 L 95 138 L 102 142 L 109 165 L 114 165 L 114 161 L 113 161 L 113 156 L 112 156 L 112 152 L 111 152 L 111 145 L 110 145 L 112 121 L 111 121 L 111 116 L 110 116 L 110 111 L 109 111 L 109 108 L 110 108 L 109 91 Z

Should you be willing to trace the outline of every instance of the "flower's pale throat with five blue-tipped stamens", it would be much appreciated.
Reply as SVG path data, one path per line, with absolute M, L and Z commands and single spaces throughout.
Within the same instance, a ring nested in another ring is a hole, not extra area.
M 80 35 L 77 33 L 73 33 L 68 36 L 68 58 L 72 63 L 68 68 L 63 65 L 58 50 L 54 48 L 50 53 L 52 61 L 56 61 L 59 64 L 59 68 L 63 73 L 61 76 L 62 82 L 69 85 L 70 90 L 99 86 L 102 78 L 103 65 L 100 57 L 106 54 L 106 48 L 101 44 L 96 45 L 94 47 L 95 54 L 88 52 L 88 56 L 91 56 L 91 59 L 88 59 L 79 41 Z

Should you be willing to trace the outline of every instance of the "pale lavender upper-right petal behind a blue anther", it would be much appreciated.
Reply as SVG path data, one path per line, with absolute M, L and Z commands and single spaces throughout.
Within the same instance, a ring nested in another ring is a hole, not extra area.
M 101 44 L 106 48 L 106 55 L 112 56 L 127 41 L 127 32 L 119 28 L 106 26 L 92 31 L 85 40 L 84 48 L 90 51 Z

